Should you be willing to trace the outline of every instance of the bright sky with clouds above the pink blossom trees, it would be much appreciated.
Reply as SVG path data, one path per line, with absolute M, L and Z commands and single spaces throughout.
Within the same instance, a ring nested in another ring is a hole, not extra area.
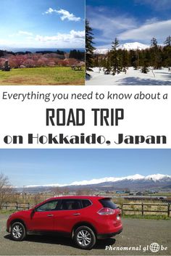
M 84 47 L 85 0 L 1 0 L 0 46 Z

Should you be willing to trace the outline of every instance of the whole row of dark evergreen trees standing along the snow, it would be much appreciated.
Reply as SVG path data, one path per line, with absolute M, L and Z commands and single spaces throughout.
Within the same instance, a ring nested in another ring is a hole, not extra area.
M 104 74 L 118 74 L 127 72 L 128 67 L 135 70 L 141 68 L 142 73 L 148 73 L 149 67 L 161 69 L 171 67 L 171 37 L 167 36 L 164 46 L 157 44 L 157 39 L 151 39 L 151 46 L 147 49 L 119 49 L 120 42 L 115 38 L 112 42 L 111 50 L 107 54 L 94 54 L 93 32 L 86 20 L 86 71 L 91 71 L 93 67 L 103 67 Z

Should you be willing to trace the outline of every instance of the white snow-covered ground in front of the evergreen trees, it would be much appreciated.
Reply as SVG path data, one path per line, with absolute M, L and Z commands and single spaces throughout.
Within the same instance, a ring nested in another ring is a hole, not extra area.
M 91 78 L 86 80 L 86 86 L 171 86 L 171 71 L 167 68 L 149 70 L 144 74 L 129 67 L 126 74 L 104 75 L 103 70 L 99 72 L 99 67 L 94 67 L 93 72 L 89 72 Z

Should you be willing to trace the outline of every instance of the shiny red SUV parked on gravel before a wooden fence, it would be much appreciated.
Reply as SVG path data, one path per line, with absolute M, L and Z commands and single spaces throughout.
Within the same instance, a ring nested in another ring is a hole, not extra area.
M 107 197 L 54 197 L 7 220 L 7 232 L 16 241 L 26 234 L 56 232 L 70 236 L 81 249 L 91 249 L 96 239 L 121 231 L 120 209 Z

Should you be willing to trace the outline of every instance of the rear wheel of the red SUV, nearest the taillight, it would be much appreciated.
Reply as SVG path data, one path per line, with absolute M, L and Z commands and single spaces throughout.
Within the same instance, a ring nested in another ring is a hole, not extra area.
M 73 239 L 80 249 L 91 249 L 96 244 L 96 235 L 88 226 L 77 228 Z

